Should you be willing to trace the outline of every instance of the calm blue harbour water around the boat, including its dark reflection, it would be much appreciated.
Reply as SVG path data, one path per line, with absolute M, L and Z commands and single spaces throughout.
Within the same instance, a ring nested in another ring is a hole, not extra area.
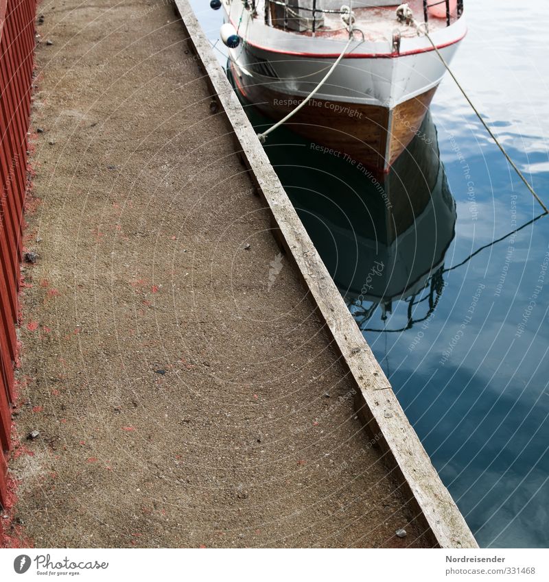
M 549 204 L 545 3 L 465 7 L 453 69 Z M 480 546 L 547 547 L 549 217 L 530 222 L 541 208 L 449 78 L 431 111 L 382 184 L 404 199 L 392 211 L 371 178 L 289 130 L 266 151 Z

